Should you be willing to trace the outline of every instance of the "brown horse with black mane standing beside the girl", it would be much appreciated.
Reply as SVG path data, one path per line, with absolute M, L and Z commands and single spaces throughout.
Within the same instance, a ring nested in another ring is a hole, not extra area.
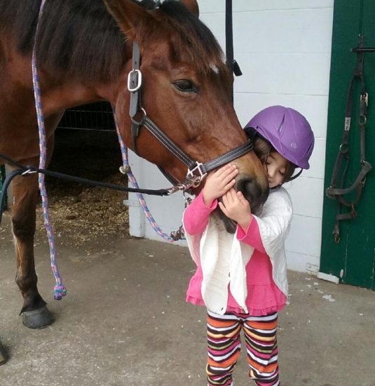
M 39 157 L 31 55 L 40 6 L 41 0 L 0 0 L 0 153 L 32 166 Z M 46 0 L 38 28 L 48 160 L 64 110 L 97 100 L 116 107 L 119 130 L 132 148 L 126 85 L 134 40 L 142 54 L 142 106 L 186 154 L 206 162 L 247 140 L 231 102 L 233 76 L 214 36 L 198 20 L 196 1 L 156 6 L 150 0 Z M 172 178 L 184 180 L 186 166 L 145 129 L 137 151 Z M 240 171 L 236 188 L 256 208 L 268 194 L 264 168 L 253 152 L 233 163 Z M 36 175 L 15 178 L 12 192 L 23 322 L 43 328 L 52 319 L 36 286 Z

